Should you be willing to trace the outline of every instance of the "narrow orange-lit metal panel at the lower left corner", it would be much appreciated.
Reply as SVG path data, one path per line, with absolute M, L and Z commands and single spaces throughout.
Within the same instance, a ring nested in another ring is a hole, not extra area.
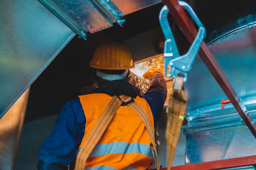
M 18 98 L 18 101 L 0 119 L 0 169 L 15 169 L 29 89 Z

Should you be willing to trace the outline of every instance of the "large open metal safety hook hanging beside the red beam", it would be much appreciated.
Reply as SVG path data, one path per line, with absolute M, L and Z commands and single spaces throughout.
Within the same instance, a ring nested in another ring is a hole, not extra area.
M 196 13 L 193 11 L 191 6 L 189 6 L 184 1 L 178 1 L 180 6 L 186 8 L 188 13 L 192 16 L 193 20 L 198 25 L 198 34 L 196 35 L 195 40 L 193 41 L 191 47 L 185 55 L 180 56 L 176 42 L 174 40 L 174 35 L 171 32 L 169 22 L 167 20 L 167 15 L 169 9 L 167 6 L 164 6 L 159 13 L 159 22 L 164 33 L 166 41 L 164 42 L 164 75 L 166 77 L 176 77 L 177 74 L 184 74 L 183 81 L 186 82 L 187 74 L 190 72 L 193 62 L 196 59 L 198 50 L 203 42 L 203 39 L 206 37 L 206 28 L 196 16 Z

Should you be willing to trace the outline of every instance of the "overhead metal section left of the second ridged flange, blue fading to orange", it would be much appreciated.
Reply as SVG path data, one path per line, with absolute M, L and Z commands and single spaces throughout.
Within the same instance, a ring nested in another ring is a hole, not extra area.
M 102 13 L 95 8 L 91 1 L 65 1 L 65 0 L 40 0 L 58 18 L 72 28 L 82 38 L 81 33 L 95 33 L 112 26 Z

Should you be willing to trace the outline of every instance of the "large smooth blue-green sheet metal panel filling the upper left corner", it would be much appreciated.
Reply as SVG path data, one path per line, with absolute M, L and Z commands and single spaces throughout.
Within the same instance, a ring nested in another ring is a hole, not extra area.
M 0 118 L 75 34 L 38 1 L 0 6 Z

